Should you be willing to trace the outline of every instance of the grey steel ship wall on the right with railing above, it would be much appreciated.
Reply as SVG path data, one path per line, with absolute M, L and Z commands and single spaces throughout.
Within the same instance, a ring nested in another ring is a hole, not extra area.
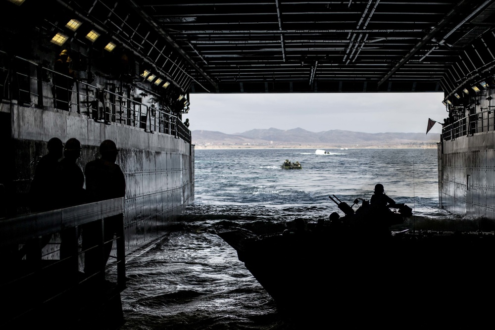
M 472 92 L 471 92 L 472 93 Z M 449 108 L 438 144 L 440 207 L 495 228 L 495 117 L 492 89 Z

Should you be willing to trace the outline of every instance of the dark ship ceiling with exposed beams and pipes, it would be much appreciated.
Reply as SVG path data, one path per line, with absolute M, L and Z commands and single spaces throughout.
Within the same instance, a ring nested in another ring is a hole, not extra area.
M 495 60 L 493 0 L 130 3 L 187 54 L 193 93 L 450 93 Z

